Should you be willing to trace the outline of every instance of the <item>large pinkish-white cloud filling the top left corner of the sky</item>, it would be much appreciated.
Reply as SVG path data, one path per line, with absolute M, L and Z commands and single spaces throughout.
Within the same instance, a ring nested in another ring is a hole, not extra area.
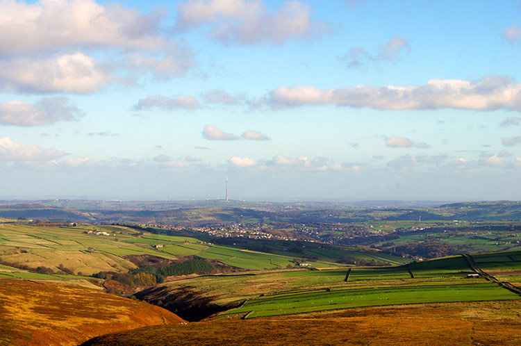
M 1 1 L 0 56 L 78 46 L 158 49 L 165 44 L 158 35 L 164 16 L 92 0 Z

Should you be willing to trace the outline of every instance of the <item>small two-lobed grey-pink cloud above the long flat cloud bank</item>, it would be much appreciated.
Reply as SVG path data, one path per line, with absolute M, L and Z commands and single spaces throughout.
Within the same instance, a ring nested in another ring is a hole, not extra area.
M 379 46 L 377 53 L 371 54 L 363 47 L 352 47 L 342 56 L 342 60 L 347 62 L 347 67 L 360 67 L 368 61 L 396 61 L 402 55 L 402 51 L 411 51 L 411 44 L 395 35 L 386 44 Z

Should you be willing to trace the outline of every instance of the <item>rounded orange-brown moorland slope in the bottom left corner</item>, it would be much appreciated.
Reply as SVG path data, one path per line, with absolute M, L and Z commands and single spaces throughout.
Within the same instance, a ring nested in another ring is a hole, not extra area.
M 0 279 L 0 345 L 78 345 L 106 333 L 183 322 L 158 306 L 90 288 Z

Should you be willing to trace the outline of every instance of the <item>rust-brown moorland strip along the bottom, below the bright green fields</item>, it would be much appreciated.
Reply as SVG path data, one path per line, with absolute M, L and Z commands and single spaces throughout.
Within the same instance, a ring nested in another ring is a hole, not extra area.
M 521 345 L 521 302 L 353 308 L 286 318 L 146 327 L 82 346 Z

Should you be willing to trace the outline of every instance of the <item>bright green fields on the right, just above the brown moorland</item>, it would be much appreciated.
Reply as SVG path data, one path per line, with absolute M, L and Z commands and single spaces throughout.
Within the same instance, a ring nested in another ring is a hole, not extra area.
M 494 261 L 496 265 L 504 263 L 508 266 L 513 263 L 520 265 L 519 261 L 512 261 L 520 254 L 513 252 L 475 257 L 482 263 Z M 301 285 L 299 289 L 286 286 L 279 292 L 266 291 L 248 299 L 240 308 L 222 313 L 222 316 L 247 315 L 247 318 L 256 318 L 361 306 L 521 298 L 497 283 L 469 279 L 467 275 L 472 272 L 463 256 L 452 256 L 401 267 L 352 268 L 349 276 L 347 270 L 321 270 L 320 276 L 313 272 L 293 273 L 295 276 L 308 276 L 307 281 L 302 278 L 298 280 Z M 279 278 L 279 282 L 284 280 Z

